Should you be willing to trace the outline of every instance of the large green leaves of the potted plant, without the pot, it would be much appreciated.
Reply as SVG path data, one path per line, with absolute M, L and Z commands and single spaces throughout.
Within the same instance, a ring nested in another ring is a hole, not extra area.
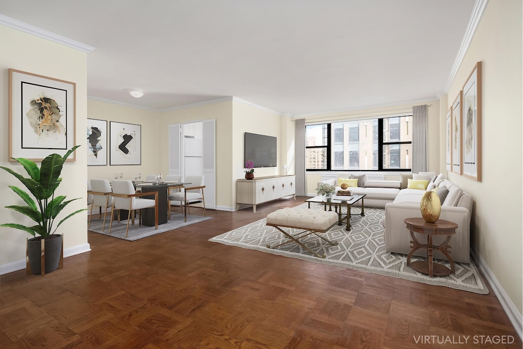
M 54 191 L 62 182 L 62 178 L 60 178 L 62 166 L 67 157 L 69 157 L 69 155 L 71 155 L 71 153 L 78 147 L 79 145 L 76 145 L 71 150 L 67 151 L 63 157 L 59 154 L 48 155 L 42 160 L 40 168 L 38 168 L 35 162 L 25 159 L 24 157 L 12 157 L 12 159 L 18 161 L 22 166 L 24 166 L 29 177 L 24 177 L 13 171 L 11 168 L 0 166 L 0 168 L 3 168 L 5 171 L 18 178 L 36 199 L 36 201 L 33 200 L 25 190 L 10 185 L 9 188 L 13 189 L 13 191 L 26 202 L 27 206 L 11 205 L 5 207 L 23 213 L 38 223 L 31 227 L 17 223 L 5 223 L 0 224 L 0 227 L 24 230 L 33 235 L 33 237 L 36 237 L 38 234 L 42 239 L 47 239 L 49 235 L 54 234 L 56 229 L 58 229 L 60 224 L 62 224 L 66 219 L 71 218 L 71 216 L 76 215 L 76 213 L 86 210 L 86 208 L 84 208 L 71 213 L 56 224 L 56 227 L 53 227 L 54 219 L 63 208 L 71 201 L 79 199 L 76 198 L 64 201 L 65 196 L 54 196 Z

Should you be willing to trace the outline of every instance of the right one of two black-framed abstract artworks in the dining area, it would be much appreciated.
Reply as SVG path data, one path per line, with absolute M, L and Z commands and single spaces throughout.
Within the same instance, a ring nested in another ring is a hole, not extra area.
M 110 164 L 142 164 L 142 126 L 110 121 Z

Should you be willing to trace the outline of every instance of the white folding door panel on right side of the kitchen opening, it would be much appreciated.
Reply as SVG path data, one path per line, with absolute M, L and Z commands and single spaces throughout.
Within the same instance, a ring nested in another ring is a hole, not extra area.
M 216 121 L 203 120 L 203 175 L 205 205 L 216 208 Z

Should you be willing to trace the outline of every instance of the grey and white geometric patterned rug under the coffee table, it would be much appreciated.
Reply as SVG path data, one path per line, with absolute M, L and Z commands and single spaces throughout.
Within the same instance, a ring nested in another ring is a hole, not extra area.
M 297 207 L 307 207 L 306 205 L 307 204 L 302 204 Z M 311 209 L 323 209 L 323 206 L 313 206 L 311 204 Z M 354 208 L 353 214 L 359 212 L 360 208 Z M 455 262 L 456 274 L 429 277 L 407 266 L 407 255 L 385 251 L 383 226 L 381 225 L 384 214 L 385 210 L 382 208 L 366 207 L 364 217 L 355 215 L 350 218 L 351 230 L 349 232 L 345 230 L 345 224 L 343 224 L 343 226 L 335 225 L 324 235 L 326 239 L 338 242 L 335 246 L 324 242 L 314 234 L 300 239 L 301 242 L 314 252 L 326 255 L 326 258 L 316 257 L 294 242 L 279 246 L 276 249 L 268 249 L 266 247 L 268 244 L 277 245 L 288 239 L 276 228 L 266 226 L 265 218 L 218 235 L 217 237 L 209 239 L 209 241 L 323 264 L 347 267 L 429 285 L 446 286 L 482 295 L 488 294 L 488 288 L 472 260 L 470 263 Z M 300 231 L 290 228 L 283 229 L 291 235 Z M 417 260 L 426 261 L 427 258 L 412 256 L 412 262 Z M 448 261 L 435 261 L 449 267 Z

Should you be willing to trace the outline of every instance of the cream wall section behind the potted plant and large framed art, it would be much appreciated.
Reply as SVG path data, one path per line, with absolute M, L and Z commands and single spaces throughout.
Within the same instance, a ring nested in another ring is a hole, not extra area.
M 63 182 L 56 193 L 66 195 L 67 199 L 81 198 L 71 202 L 63 211 L 64 213 L 65 211 L 71 213 L 85 208 L 87 160 L 84 156 L 84 139 L 87 115 L 87 54 L 3 25 L 0 25 L 0 37 L 2 38 L 2 60 L 0 60 L 2 72 L 0 105 L 2 108 L 0 109 L 0 119 L 3 125 L 8 125 L 9 119 L 9 68 L 76 83 L 75 136 L 76 144 L 82 144 L 82 147 L 76 151 L 75 162 L 65 163 L 62 170 Z M 42 54 L 42 52 L 49 52 L 49 54 Z M 8 127 L 3 128 L 0 139 L 2 139 L 0 141 L 2 153 L 0 164 L 11 167 L 20 173 L 25 172 L 22 166 L 8 161 Z M 0 222 L 31 224 L 32 221 L 21 213 L 4 208 L 5 205 L 24 205 L 20 197 L 13 193 L 7 185 L 23 186 L 14 176 L 4 170 L 1 171 L 0 197 L 2 197 L 2 205 L 0 207 Z M 60 217 L 64 218 L 65 216 Z M 64 233 L 65 256 L 89 250 L 86 218 L 87 213 L 81 212 L 60 226 L 58 232 Z M 31 238 L 31 235 L 21 230 L 0 228 L 0 274 L 25 267 L 26 238 Z

